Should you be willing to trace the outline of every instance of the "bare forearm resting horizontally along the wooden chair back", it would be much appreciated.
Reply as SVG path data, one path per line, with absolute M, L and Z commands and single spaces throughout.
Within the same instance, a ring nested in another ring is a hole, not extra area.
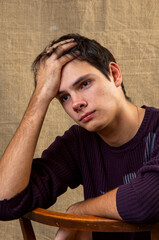
M 99 197 L 72 205 L 67 212 L 121 220 L 116 206 L 116 193 L 117 188 Z

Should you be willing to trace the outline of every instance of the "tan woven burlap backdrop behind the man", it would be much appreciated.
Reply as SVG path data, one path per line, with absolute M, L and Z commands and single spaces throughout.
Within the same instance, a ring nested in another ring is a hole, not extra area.
M 0 10 L 0 155 L 33 91 L 33 59 L 62 34 L 80 33 L 108 47 L 116 56 L 133 101 L 159 107 L 158 0 L 0 0 Z M 72 123 L 54 101 L 36 156 Z M 65 211 L 81 199 L 81 189 L 69 191 L 53 209 Z M 54 238 L 53 228 L 35 227 L 37 239 Z M 22 239 L 17 220 L 0 222 L 0 239 Z

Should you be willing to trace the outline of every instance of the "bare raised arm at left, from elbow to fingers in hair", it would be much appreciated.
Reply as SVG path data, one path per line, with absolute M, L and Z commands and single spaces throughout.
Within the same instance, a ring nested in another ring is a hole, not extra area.
M 63 43 L 65 42 L 68 40 Z M 0 161 L 0 200 L 12 198 L 29 183 L 35 147 L 49 104 L 57 94 L 61 69 L 73 59 L 71 55 L 58 58 L 62 51 L 76 44 L 69 42 L 59 46 L 56 53 L 40 62 L 36 89 L 22 122 Z

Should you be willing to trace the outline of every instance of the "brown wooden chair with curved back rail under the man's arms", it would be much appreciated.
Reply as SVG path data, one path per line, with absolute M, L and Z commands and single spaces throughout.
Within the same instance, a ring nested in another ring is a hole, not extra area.
M 87 215 L 73 215 L 37 208 L 19 219 L 24 240 L 36 240 L 31 221 L 73 230 L 94 232 L 151 232 L 151 240 L 159 239 L 159 223 L 127 224 L 122 221 Z

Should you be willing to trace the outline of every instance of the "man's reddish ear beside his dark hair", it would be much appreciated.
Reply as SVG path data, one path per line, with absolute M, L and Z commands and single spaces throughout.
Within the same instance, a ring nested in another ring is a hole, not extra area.
M 109 63 L 110 77 L 113 78 L 116 87 L 119 87 L 122 83 L 122 75 L 119 66 L 114 63 Z

